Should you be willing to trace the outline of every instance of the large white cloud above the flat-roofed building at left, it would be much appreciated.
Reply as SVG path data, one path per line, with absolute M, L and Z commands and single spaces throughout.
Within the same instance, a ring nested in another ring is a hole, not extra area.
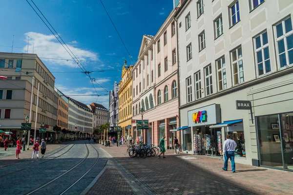
M 49 61 L 52 64 L 56 65 L 64 65 L 70 67 L 78 67 L 75 61 L 72 60 L 70 55 L 66 52 L 63 46 L 58 42 L 54 35 L 44 35 L 36 32 L 28 32 L 25 33 L 26 39 L 24 41 L 27 42 L 27 37 L 29 36 L 29 53 L 32 53 L 33 44 L 34 53 L 38 54 L 39 57 L 49 58 L 42 59 L 43 61 Z M 79 61 L 98 61 L 98 57 L 96 53 L 87 51 L 76 46 L 67 44 L 69 49 L 73 52 L 73 54 L 79 59 Z M 67 49 L 68 50 L 68 49 Z M 27 45 L 22 49 L 23 53 L 27 52 Z M 59 59 L 69 59 L 67 60 L 59 60 Z

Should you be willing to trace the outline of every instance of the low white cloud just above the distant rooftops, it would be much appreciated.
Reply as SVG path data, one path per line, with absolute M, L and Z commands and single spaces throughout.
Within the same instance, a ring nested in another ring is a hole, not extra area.
M 96 95 L 96 91 L 93 87 L 92 88 L 90 87 L 67 88 L 60 84 L 56 84 L 55 87 L 59 89 L 65 96 L 69 96 L 69 97 L 70 95 Z M 108 92 L 98 87 L 96 87 L 96 90 L 98 91 L 99 95 L 105 95 L 105 96 L 100 96 L 99 98 L 97 96 L 72 96 L 70 98 L 76 99 L 84 104 L 91 104 L 92 102 L 96 102 L 98 98 L 97 103 L 100 103 L 106 108 L 108 108 L 109 106 Z

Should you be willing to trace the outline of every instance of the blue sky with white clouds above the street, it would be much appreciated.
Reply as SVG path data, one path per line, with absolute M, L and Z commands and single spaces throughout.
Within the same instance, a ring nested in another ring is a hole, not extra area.
M 31 1 L 29 0 L 31 3 Z M 100 0 L 34 0 L 62 39 L 70 46 L 87 71 L 108 91 L 114 78 L 121 78 L 124 60 L 133 64 L 126 49 L 108 19 Z M 134 62 L 137 60 L 142 36 L 155 35 L 173 8 L 172 0 L 103 0 Z M 80 71 L 70 60 L 62 45 L 43 24 L 25 0 L 1 1 L 0 51 L 11 52 L 14 35 L 15 53 L 33 52 L 42 59 L 51 72 Z M 3 20 L 4 19 L 4 20 Z M 69 59 L 59 60 L 59 59 Z M 95 94 L 91 81 L 82 73 L 53 73 L 55 86 L 65 95 Z M 95 85 L 98 94 L 107 94 Z M 97 97 L 73 97 L 84 103 L 96 102 Z M 108 97 L 97 103 L 108 108 Z

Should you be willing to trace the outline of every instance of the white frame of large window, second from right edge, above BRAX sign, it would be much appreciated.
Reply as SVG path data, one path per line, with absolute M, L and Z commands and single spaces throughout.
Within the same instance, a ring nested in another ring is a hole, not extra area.
M 271 58 L 270 58 L 270 47 L 269 47 L 269 38 L 268 38 L 268 42 L 263 45 L 263 34 L 267 33 L 268 35 L 268 32 L 267 31 L 264 31 L 260 34 L 258 34 L 257 36 L 255 36 L 253 38 L 253 41 L 254 41 L 254 56 L 255 56 L 255 65 L 256 65 L 256 74 L 258 77 L 260 76 L 263 76 L 263 75 L 266 75 L 267 73 L 270 73 L 272 71 L 272 67 L 271 67 Z M 256 38 L 260 37 L 260 44 L 261 46 L 259 48 L 256 48 Z M 264 55 L 264 49 L 268 48 L 269 49 L 269 59 L 266 59 L 265 60 L 265 55 Z M 260 52 L 262 53 L 262 61 L 260 63 L 257 63 L 257 53 Z M 266 65 L 265 65 L 265 62 L 266 61 L 270 61 L 270 71 L 269 72 L 266 72 Z M 258 71 L 258 64 L 263 64 L 263 74 L 262 75 L 259 75 L 259 71 Z

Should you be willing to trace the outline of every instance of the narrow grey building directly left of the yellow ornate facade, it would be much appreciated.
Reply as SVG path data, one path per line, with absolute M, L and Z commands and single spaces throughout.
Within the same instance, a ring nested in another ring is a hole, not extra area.
M 109 92 L 109 113 L 110 113 L 110 130 L 114 131 L 114 126 L 118 126 L 118 91 L 119 86 L 116 81 L 114 81 L 114 89 Z

